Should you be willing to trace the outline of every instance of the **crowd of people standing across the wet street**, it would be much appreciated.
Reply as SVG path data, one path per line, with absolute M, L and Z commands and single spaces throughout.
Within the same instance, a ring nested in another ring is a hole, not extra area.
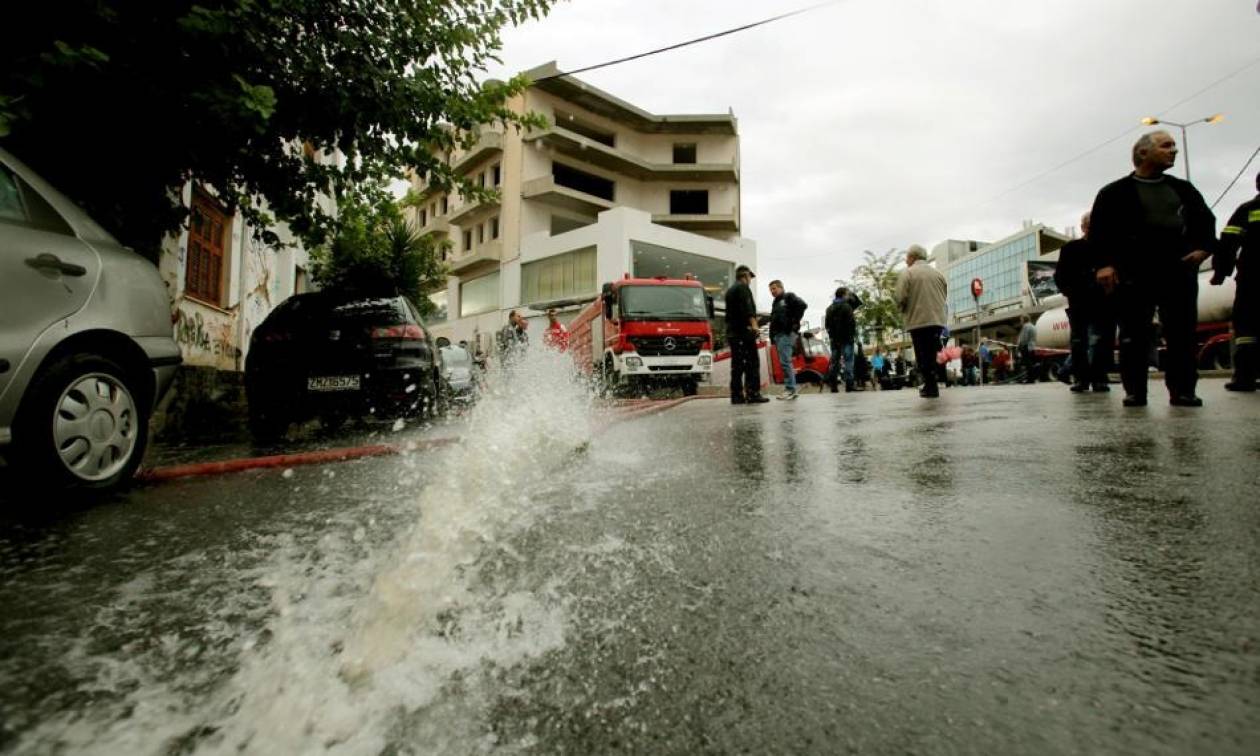
M 1109 374 L 1119 328 L 1119 369 L 1124 406 L 1147 404 L 1149 354 L 1153 350 L 1153 321 L 1158 312 L 1166 345 L 1164 383 L 1168 401 L 1178 407 L 1202 407 L 1196 394 L 1198 381 L 1196 325 L 1198 271 L 1212 260 L 1212 285 L 1235 275 L 1234 379 L 1228 391 L 1256 389 L 1256 338 L 1260 306 L 1255 301 L 1247 268 L 1260 251 L 1260 195 L 1244 203 L 1216 236 L 1216 218 L 1198 190 L 1187 180 L 1168 175 L 1177 158 L 1177 145 L 1167 131 L 1143 135 L 1133 146 L 1134 170 L 1104 186 L 1081 219 L 1082 238 L 1068 242 L 1060 253 L 1055 276 L 1067 299 L 1071 329 L 1071 391 L 1108 392 Z M 1260 190 L 1260 175 L 1256 176 Z M 935 267 L 926 265 L 927 252 L 919 244 L 906 249 L 906 267 L 897 278 L 895 299 L 903 328 L 914 345 L 915 365 L 924 398 L 940 396 L 941 350 L 948 335 L 946 296 L 949 284 Z M 753 272 L 736 268 L 736 282 L 726 292 L 727 341 L 731 345 L 731 403 L 769 401 L 761 394 L 757 336 L 760 325 L 750 287 Z M 799 396 L 793 369 L 794 344 L 800 331 L 804 301 L 770 284 L 770 341 L 775 345 L 784 374 L 780 398 Z M 856 391 L 864 355 L 858 345 L 856 310 L 861 300 L 845 287 L 835 290 L 827 309 L 824 328 L 830 339 L 830 367 L 824 382 L 833 392 L 844 383 Z M 1018 379 L 1038 377 L 1036 328 L 1024 315 L 1018 340 Z M 960 350 L 961 382 L 983 381 L 992 368 L 997 381 L 1012 372 L 1011 353 L 1004 345 L 982 344 Z M 905 359 L 893 359 L 877 349 L 869 359 L 869 375 L 902 374 Z M 878 384 L 874 378 L 873 386 Z

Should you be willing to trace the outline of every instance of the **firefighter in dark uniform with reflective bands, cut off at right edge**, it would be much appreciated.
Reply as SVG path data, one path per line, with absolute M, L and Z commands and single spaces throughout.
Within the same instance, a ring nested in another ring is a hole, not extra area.
M 1256 192 L 1260 192 L 1260 174 L 1256 174 Z M 1235 258 L 1237 263 L 1235 265 Z M 1234 381 L 1225 384 L 1230 391 L 1256 389 L 1256 336 L 1260 335 L 1260 271 L 1247 268 L 1260 266 L 1260 194 L 1239 205 L 1221 232 L 1221 244 L 1212 258 L 1212 286 L 1220 286 L 1234 273 L 1237 289 L 1234 292 Z

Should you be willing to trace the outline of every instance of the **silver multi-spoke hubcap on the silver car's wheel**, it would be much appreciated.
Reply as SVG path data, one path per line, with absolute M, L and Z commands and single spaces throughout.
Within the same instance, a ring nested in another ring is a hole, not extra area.
M 53 415 L 53 444 L 66 469 L 82 480 L 106 480 L 136 451 L 136 404 L 112 375 L 83 375 L 62 392 Z

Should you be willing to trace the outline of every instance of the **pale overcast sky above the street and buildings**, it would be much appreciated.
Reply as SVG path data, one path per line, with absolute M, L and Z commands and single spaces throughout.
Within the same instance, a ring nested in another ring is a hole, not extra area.
M 490 74 L 571 71 L 811 4 L 562 1 L 505 30 Z M 782 278 L 818 320 L 863 249 L 997 241 L 1026 219 L 1077 226 L 1129 171 L 1143 116 L 1225 113 L 1189 131 L 1192 178 L 1213 202 L 1260 146 L 1257 40 L 1255 0 L 842 0 L 578 78 L 655 113 L 733 110 L 759 301 Z M 1220 220 L 1256 171 L 1260 159 Z

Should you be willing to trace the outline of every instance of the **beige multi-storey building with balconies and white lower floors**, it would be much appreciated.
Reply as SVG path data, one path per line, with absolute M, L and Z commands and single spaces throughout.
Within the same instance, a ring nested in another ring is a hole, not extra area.
M 445 156 L 494 202 L 430 190 L 415 219 L 449 239 L 451 277 L 433 296 L 436 334 L 490 348 L 509 310 L 539 318 L 576 312 L 605 281 L 692 273 L 714 294 L 737 265 L 756 265 L 740 236 L 740 135 L 733 115 L 654 115 L 556 63 L 527 72 L 536 83 L 517 112 L 546 129 L 485 126 L 476 144 Z

